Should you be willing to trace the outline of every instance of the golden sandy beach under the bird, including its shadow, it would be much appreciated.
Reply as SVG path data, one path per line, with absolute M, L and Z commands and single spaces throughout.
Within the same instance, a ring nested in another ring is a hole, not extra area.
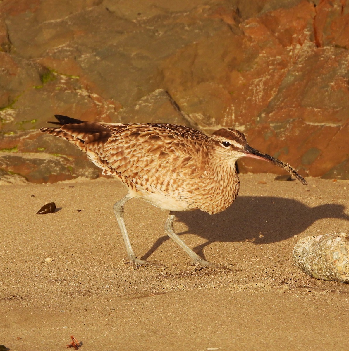
M 347 350 L 349 286 L 312 279 L 299 238 L 349 230 L 349 181 L 242 174 L 226 211 L 178 213 L 175 230 L 215 268 L 201 270 L 163 231 L 167 212 L 125 206 L 138 257 L 124 262 L 117 180 L 1 185 L 0 344 L 9 350 Z M 35 214 L 55 202 L 52 214 Z M 81 211 L 78 211 L 81 210 Z M 51 257 L 52 262 L 45 262 Z

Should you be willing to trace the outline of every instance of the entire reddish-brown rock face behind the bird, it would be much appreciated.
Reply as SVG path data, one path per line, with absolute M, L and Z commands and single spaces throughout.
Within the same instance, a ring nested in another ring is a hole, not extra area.
M 233 127 L 303 176 L 349 179 L 346 0 L 165 3 L 0 2 L 1 174 L 98 176 L 35 132 L 58 113 Z M 252 159 L 239 170 L 279 172 Z

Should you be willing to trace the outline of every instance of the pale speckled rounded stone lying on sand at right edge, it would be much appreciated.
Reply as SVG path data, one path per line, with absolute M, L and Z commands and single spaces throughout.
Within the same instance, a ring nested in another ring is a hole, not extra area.
M 349 283 L 349 237 L 346 233 L 308 236 L 298 240 L 296 265 L 316 279 Z

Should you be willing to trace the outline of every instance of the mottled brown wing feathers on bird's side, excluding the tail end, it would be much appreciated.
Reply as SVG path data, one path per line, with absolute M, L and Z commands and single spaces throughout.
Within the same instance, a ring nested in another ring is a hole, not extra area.
M 136 186 L 173 192 L 205 171 L 208 137 L 199 131 L 165 124 L 121 125 L 111 131 L 98 155 Z

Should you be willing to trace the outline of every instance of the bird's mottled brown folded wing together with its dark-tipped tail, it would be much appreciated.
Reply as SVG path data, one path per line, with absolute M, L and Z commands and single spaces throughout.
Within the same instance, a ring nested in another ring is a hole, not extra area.
M 60 127 L 42 132 L 64 138 L 126 185 L 150 192 L 176 193 L 198 187 L 208 159 L 208 137 L 171 124 L 85 122 L 55 115 Z

